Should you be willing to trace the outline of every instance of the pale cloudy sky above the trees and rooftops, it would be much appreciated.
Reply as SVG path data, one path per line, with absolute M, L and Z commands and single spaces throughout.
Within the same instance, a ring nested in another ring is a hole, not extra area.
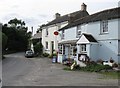
M 89 14 L 118 7 L 120 0 L 0 0 L 0 23 L 17 18 L 25 21 L 34 34 L 40 25 L 55 19 L 55 13 L 69 14 L 87 5 Z

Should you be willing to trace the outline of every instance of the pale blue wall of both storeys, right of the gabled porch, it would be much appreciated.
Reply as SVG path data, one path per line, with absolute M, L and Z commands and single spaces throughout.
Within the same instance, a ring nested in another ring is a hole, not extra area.
M 91 34 L 99 43 L 97 50 L 97 46 L 96 48 L 91 46 L 91 58 L 109 60 L 112 57 L 115 61 L 118 60 L 119 23 L 120 19 L 108 20 L 108 34 L 100 34 L 100 21 L 80 25 L 82 33 Z

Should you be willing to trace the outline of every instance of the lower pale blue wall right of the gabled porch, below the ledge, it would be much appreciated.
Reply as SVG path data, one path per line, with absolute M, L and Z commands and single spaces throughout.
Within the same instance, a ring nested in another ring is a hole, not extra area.
M 98 50 L 99 59 L 118 61 L 118 40 L 99 41 Z

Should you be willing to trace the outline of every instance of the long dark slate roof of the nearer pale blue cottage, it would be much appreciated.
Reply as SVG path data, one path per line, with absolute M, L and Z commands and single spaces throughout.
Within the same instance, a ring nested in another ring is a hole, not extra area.
M 95 14 L 88 15 L 83 18 L 74 20 L 72 23 L 69 23 L 67 26 L 59 29 L 59 31 L 70 28 L 70 27 L 74 27 L 83 23 L 96 22 L 101 20 L 110 20 L 115 18 L 120 18 L 120 7 L 100 11 Z

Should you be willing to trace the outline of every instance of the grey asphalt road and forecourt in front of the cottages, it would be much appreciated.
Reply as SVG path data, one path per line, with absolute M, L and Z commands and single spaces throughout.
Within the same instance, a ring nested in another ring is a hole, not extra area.
M 49 58 L 25 58 L 24 53 L 6 55 L 3 60 L 3 86 L 117 86 L 117 79 L 80 71 L 65 71 L 65 66 Z

